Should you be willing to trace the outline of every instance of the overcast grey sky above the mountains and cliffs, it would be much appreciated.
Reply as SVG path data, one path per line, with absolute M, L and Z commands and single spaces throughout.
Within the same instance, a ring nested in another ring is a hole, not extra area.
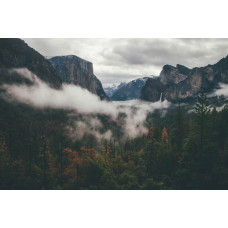
M 44 56 L 77 55 L 93 63 L 103 85 L 159 75 L 163 65 L 189 68 L 228 55 L 228 39 L 24 39 Z

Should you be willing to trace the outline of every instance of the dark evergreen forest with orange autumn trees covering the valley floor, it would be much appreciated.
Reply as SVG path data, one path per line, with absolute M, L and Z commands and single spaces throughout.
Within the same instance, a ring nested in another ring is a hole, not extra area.
M 64 110 L 0 108 L 1 189 L 228 189 L 228 107 L 204 93 L 193 113 L 156 111 L 147 135 L 121 143 L 70 140 Z

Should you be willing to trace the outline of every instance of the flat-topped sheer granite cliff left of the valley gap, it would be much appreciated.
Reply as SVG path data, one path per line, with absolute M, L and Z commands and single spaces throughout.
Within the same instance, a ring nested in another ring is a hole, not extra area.
M 49 59 L 63 82 L 79 85 L 98 95 L 101 99 L 107 96 L 101 82 L 93 73 L 93 64 L 74 55 L 56 56 Z

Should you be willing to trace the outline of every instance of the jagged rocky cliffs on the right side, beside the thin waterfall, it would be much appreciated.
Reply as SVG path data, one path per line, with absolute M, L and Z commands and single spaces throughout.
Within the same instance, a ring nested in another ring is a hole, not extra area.
M 165 65 L 159 82 L 148 79 L 142 88 L 141 98 L 158 101 L 159 92 L 169 101 L 184 100 L 196 96 L 201 90 L 211 92 L 218 83 L 228 83 L 228 56 L 206 67 L 177 67 Z

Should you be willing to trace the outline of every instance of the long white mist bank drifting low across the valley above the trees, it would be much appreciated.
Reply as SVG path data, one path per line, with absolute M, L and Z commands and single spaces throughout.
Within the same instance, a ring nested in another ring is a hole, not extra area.
M 94 135 L 97 139 L 108 139 L 112 136 L 111 130 L 100 133 L 102 123 L 94 117 L 96 114 L 109 116 L 112 121 L 117 122 L 123 128 L 125 137 L 135 138 L 147 133 L 145 120 L 148 113 L 155 109 L 167 108 L 170 105 L 167 101 L 155 103 L 139 100 L 101 101 L 98 96 L 76 85 L 63 84 L 60 90 L 53 89 L 26 68 L 12 69 L 10 72 L 16 72 L 32 82 L 32 85 L 3 85 L 11 99 L 38 108 L 72 110 L 84 116 L 82 121 L 77 120 L 74 123 L 81 133 L 76 133 L 74 126 L 68 128 L 71 136 L 74 135 L 75 138 L 82 138 L 87 133 Z M 120 114 L 124 114 L 125 117 L 121 119 Z M 91 117 L 91 115 L 93 116 Z

